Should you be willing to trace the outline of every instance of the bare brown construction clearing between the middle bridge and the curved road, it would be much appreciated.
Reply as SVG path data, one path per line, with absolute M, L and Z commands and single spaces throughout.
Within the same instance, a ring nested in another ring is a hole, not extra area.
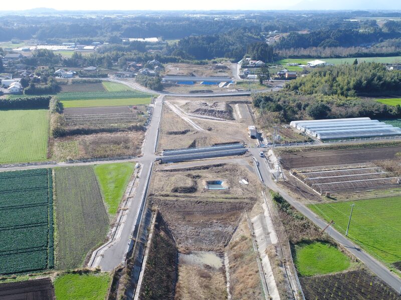
M 253 124 L 250 97 L 164 98 L 158 151 L 222 143 L 255 143 L 248 136 Z

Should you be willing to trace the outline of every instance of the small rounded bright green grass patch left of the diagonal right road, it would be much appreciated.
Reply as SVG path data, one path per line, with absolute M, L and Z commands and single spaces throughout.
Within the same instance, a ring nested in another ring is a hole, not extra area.
M 337 247 L 323 243 L 299 243 L 295 245 L 294 263 L 302 276 L 313 276 L 346 270 L 349 258 Z

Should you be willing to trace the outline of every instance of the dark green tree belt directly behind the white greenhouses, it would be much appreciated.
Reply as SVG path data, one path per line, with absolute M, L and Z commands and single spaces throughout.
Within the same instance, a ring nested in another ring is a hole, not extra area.
M 389 106 L 358 97 L 305 95 L 288 90 L 255 94 L 253 103 L 258 108 L 261 120 L 272 123 L 289 122 L 296 119 L 401 116 L 399 105 Z

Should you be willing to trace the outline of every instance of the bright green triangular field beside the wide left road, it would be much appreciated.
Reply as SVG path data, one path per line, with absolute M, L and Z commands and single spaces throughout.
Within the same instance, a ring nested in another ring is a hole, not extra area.
M 134 163 L 98 164 L 94 168 L 107 210 L 111 215 L 114 215 L 134 171 Z

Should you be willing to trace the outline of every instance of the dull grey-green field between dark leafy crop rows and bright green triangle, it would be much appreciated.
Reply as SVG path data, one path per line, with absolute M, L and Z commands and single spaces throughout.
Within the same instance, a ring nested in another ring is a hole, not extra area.
M 109 218 L 92 166 L 55 168 L 55 181 L 56 268 L 76 268 L 103 242 Z

